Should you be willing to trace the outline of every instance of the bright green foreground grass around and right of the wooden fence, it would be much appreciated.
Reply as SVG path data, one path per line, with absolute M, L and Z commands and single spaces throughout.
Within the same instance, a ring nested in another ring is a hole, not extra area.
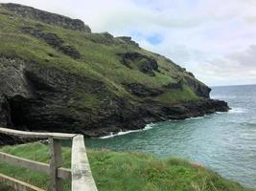
M 48 147 L 42 143 L 7 146 L 1 152 L 48 161 Z M 157 159 L 135 153 L 89 150 L 88 157 L 99 191 L 249 191 L 239 183 L 183 159 Z M 63 148 L 64 166 L 70 167 L 70 149 Z M 0 172 L 46 188 L 49 178 L 31 170 L 0 163 Z M 28 176 L 29 175 L 29 176 Z M 65 182 L 65 190 L 70 181 Z

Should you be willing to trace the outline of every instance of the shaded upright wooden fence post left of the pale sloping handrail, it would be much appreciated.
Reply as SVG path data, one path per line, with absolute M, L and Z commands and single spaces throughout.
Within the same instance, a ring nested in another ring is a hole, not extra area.
M 61 142 L 59 139 L 49 138 L 50 144 L 50 172 L 51 172 L 51 191 L 62 191 L 62 182 L 58 178 L 58 168 L 62 165 Z

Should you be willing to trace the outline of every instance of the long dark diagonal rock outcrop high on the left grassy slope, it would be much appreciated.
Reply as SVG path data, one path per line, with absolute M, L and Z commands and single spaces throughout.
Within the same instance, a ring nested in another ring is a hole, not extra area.
M 32 27 L 23 27 L 22 32 L 29 33 L 36 38 L 43 39 L 47 44 L 51 45 L 61 53 L 64 53 L 74 59 L 81 58 L 81 53 L 79 53 L 74 47 L 69 45 L 65 45 L 64 41 L 53 32 L 43 32 L 40 28 L 32 28 Z

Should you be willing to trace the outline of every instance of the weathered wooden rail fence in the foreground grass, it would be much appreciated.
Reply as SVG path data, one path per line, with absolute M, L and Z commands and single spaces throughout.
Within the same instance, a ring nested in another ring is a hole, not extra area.
M 30 159 L 22 159 L 1 152 L 0 160 L 50 175 L 51 191 L 62 191 L 63 188 L 61 180 L 68 180 L 70 178 L 72 179 L 72 191 L 97 191 L 95 181 L 91 174 L 89 161 L 86 156 L 82 135 L 25 132 L 1 127 L 0 134 L 19 138 L 48 138 L 50 146 L 50 164 Z M 61 140 L 67 139 L 72 140 L 71 169 L 61 167 Z M 34 185 L 20 180 L 15 180 L 2 174 L 0 174 L 0 181 L 12 186 L 12 188 L 17 191 L 42 191 L 42 189 L 37 188 Z

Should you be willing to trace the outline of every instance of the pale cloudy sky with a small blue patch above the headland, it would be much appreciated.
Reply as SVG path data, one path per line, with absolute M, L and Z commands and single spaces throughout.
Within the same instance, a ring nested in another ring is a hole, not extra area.
M 208 85 L 256 83 L 256 0 L 0 0 L 128 35 Z

